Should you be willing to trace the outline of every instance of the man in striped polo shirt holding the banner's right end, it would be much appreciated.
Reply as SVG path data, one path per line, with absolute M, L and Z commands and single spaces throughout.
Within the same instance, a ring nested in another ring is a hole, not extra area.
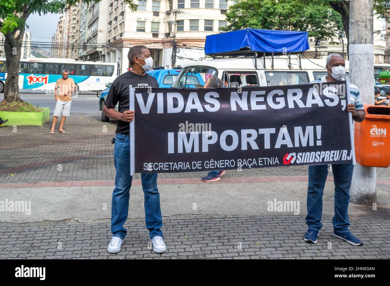
M 332 82 L 344 80 L 345 61 L 339 54 L 330 54 L 326 58 L 327 75 L 314 82 Z M 351 104 L 347 104 L 347 112 L 352 113 L 352 119 L 362 122 L 365 111 L 360 100 L 360 93 L 354 84 L 349 84 Z M 334 140 L 337 140 L 335 138 Z M 333 180 L 335 184 L 335 215 L 333 216 L 333 236 L 343 239 L 355 246 L 363 245 L 363 242 L 353 236 L 348 230 L 348 204 L 349 189 L 351 188 L 353 165 L 352 163 L 332 164 Z M 308 189 L 307 189 L 307 216 L 306 224 L 308 230 L 304 240 L 310 243 L 317 243 L 317 235 L 323 224 L 322 217 L 322 196 L 326 177 L 328 176 L 328 165 L 309 166 Z

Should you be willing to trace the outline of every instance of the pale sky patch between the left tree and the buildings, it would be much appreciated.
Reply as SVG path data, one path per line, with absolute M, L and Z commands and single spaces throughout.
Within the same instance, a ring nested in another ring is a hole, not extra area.
M 31 14 L 27 18 L 27 25 L 30 26 L 26 31 L 31 32 L 32 42 L 51 43 L 57 23 L 60 19 L 59 14 L 46 14 L 39 16 L 39 14 Z M 50 46 L 48 46 L 50 47 Z

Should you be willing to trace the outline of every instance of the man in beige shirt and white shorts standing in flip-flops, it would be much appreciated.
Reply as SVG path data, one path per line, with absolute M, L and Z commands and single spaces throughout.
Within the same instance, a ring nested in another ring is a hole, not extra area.
M 76 84 L 73 79 L 69 78 L 69 70 L 62 71 L 62 78 L 55 83 L 54 97 L 55 109 L 53 113 L 53 124 L 51 125 L 50 133 L 54 133 L 54 127 L 57 123 L 58 116 L 61 116 L 60 129 L 58 132 L 65 133 L 62 129 L 64 127 L 65 119 L 70 115 L 72 92 L 76 91 Z

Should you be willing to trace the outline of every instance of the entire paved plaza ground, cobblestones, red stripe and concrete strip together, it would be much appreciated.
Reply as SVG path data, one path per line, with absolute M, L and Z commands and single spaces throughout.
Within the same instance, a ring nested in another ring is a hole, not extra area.
M 375 206 L 349 204 L 350 229 L 364 242 L 355 247 L 331 236 L 332 172 L 319 242 L 303 241 L 306 166 L 228 171 L 213 183 L 202 182 L 202 173 L 159 174 L 164 254 L 148 244 L 137 174 L 128 236 L 119 254 L 109 254 L 116 123 L 67 119 L 65 134 L 49 134 L 51 121 L 17 132 L 0 127 L 0 201 L 31 204 L 30 214 L 0 212 L 0 258 L 390 258 L 390 168 L 377 168 Z M 271 212 L 274 200 L 295 202 L 299 210 Z

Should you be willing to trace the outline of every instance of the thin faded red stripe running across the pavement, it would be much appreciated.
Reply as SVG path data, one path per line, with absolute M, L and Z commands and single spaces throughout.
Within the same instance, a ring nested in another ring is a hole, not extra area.
M 333 177 L 327 177 L 326 181 L 333 181 Z M 247 183 L 247 182 L 307 182 L 307 176 L 283 176 L 283 177 L 239 177 L 227 178 L 224 177 L 221 181 L 214 182 L 223 183 Z M 390 180 L 378 179 L 378 184 L 390 184 Z M 141 186 L 140 180 L 133 180 L 133 186 Z M 177 185 L 177 184 L 212 184 L 203 182 L 200 178 L 184 178 L 184 179 L 158 179 L 159 185 Z M 78 186 L 115 186 L 115 181 L 69 181 L 69 182 L 37 182 L 37 183 L 9 183 L 0 184 L 0 189 L 16 189 L 16 188 L 42 188 L 42 187 L 78 187 Z

